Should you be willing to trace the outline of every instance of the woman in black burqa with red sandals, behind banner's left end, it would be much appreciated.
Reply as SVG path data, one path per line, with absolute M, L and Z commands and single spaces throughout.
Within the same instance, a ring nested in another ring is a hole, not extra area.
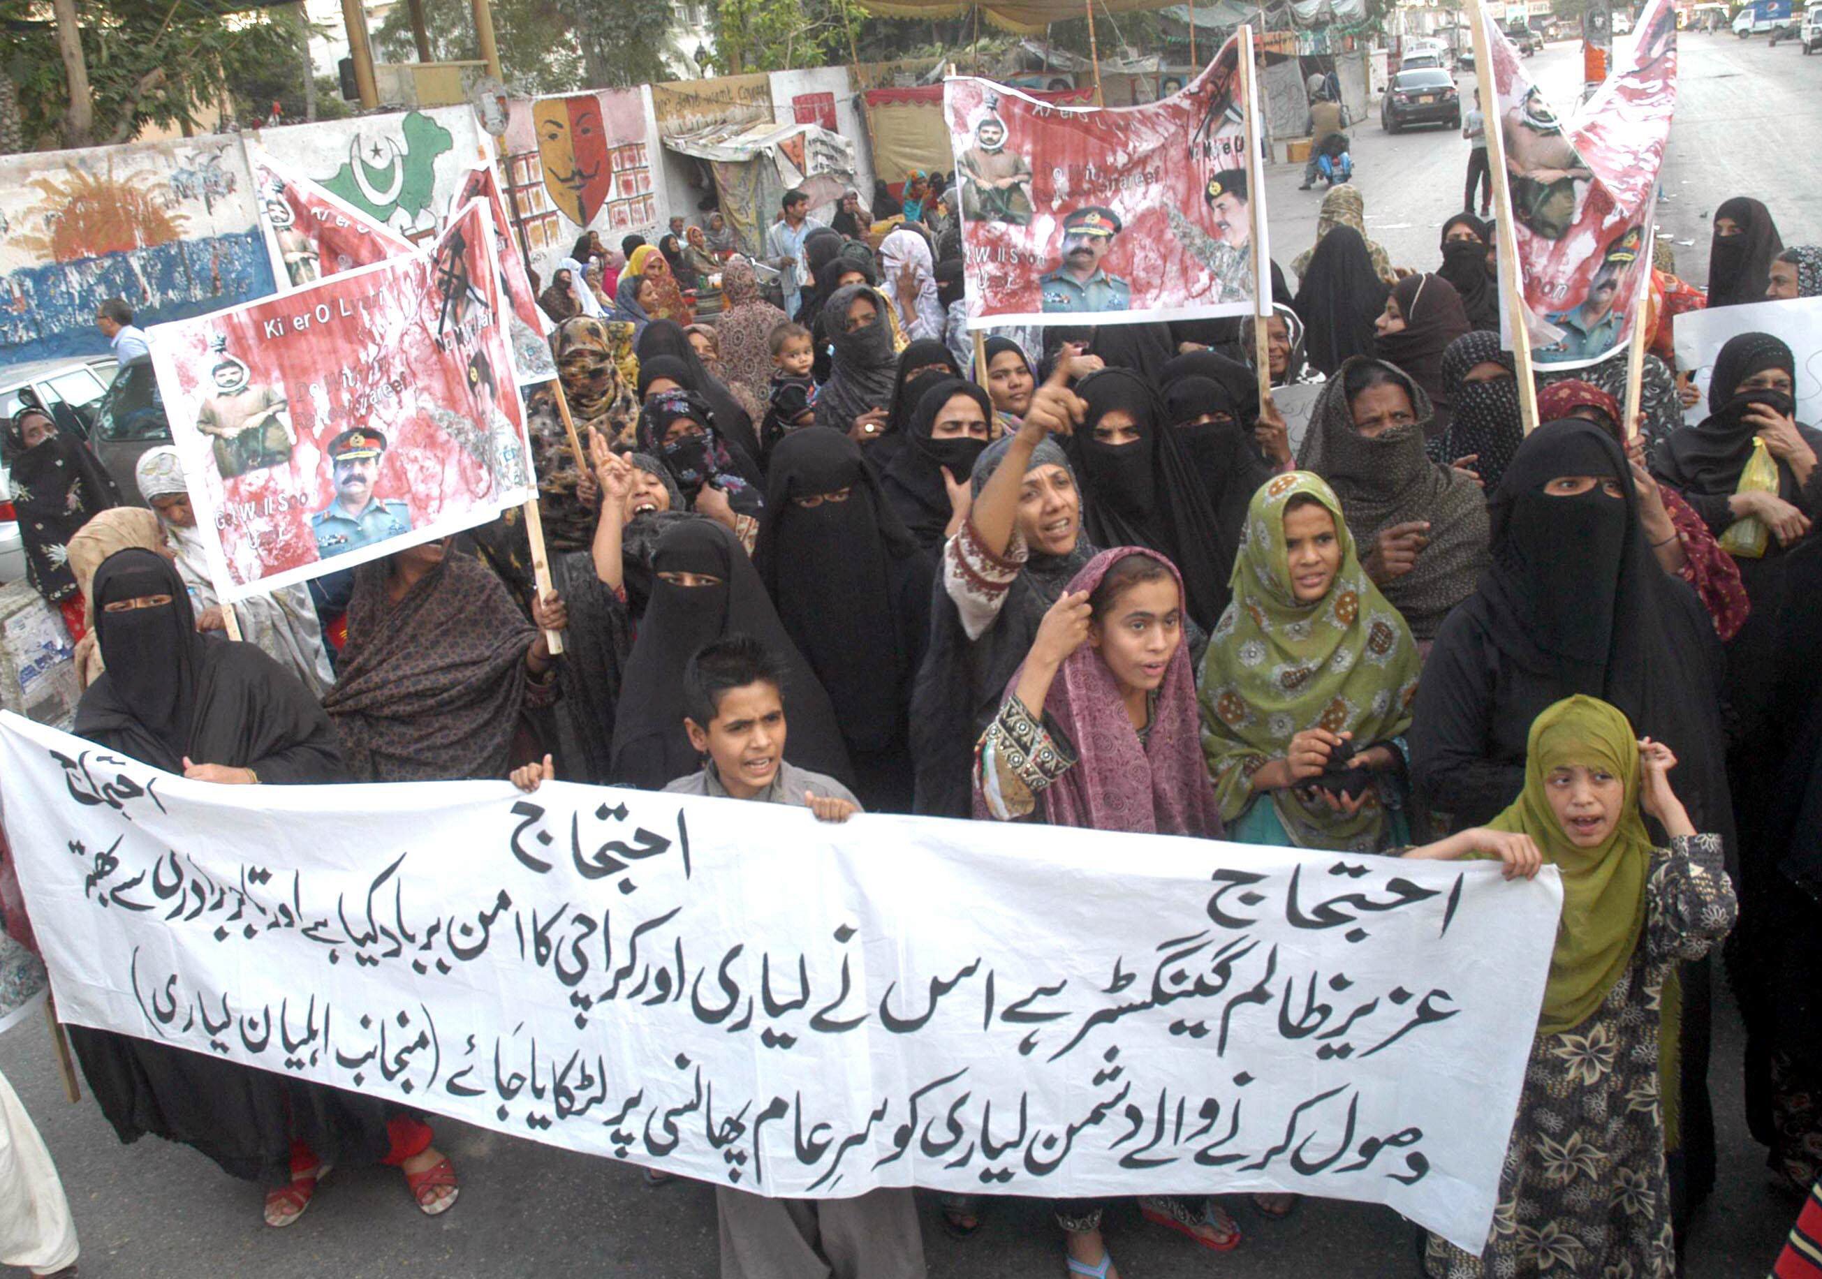
M 184 581 L 162 556 L 115 552 L 95 572 L 93 599 L 107 670 L 82 694 L 77 736 L 204 782 L 346 780 L 315 698 L 259 647 L 197 634 Z M 430 1128 L 377 1099 L 135 1035 L 67 1031 L 120 1141 L 153 1133 L 262 1182 L 268 1224 L 295 1221 L 328 1164 L 401 1166 L 425 1212 L 456 1202 L 456 1173 Z

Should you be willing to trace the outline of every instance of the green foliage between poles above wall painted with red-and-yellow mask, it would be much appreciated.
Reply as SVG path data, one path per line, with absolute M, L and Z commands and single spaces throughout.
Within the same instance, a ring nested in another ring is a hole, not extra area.
M 563 38 L 568 18 L 556 0 L 494 0 L 494 42 L 507 84 L 519 93 L 567 93 L 583 86 L 581 51 Z M 437 62 L 479 58 L 468 0 L 425 0 L 425 33 Z M 374 33 L 381 62 L 417 62 L 408 4 L 395 4 Z

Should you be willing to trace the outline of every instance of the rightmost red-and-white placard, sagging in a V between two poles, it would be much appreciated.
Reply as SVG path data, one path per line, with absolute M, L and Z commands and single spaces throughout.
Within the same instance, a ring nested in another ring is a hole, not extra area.
M 1676 7 L 1645 7 L 1625 66 L 1567 122 L 1525 75 L 1492 9 L 1478 13 L 1489 51 L 1481 84 L 1494 89 L 1483 104 L 1490 159 L 1505 166 L 1507 242 L 1518 248 L 1516 282 L 1510 255 L 1500 255 L 1501 288 L 1523 293 L 1540 368 L 1585 368 L 1625 348 L 1651 275 L 1658 171 L 1676 111 Z M 1501 326 L 1512 350 L 1505 308 Z

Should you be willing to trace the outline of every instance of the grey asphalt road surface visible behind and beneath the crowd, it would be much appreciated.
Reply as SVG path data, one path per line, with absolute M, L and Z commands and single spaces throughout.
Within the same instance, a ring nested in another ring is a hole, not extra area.
M 1822 137 L 1822 58 L 1806 58 L 1795 46 L 1769 49 L 1762 36 L 1685 35 L 1682 49 L 1682 98 L 1663 179 L 1674 199 L 1660 206 L 1667 231 L 1696 240 L 1676 246 L 1680 271 L 1696 282 L 1707 279 L 1707 219 L 1731 195 L 1766 200 L 1786 244 L 1822 239 L 1822 230 L 1802 217 L 1815 208 L 1822 180 L 1798 149 Z M 1525 66 L 1567 109 L 1576 97 L 1580 47 L 1554 44 Z M 1368 231 L 1396 264 L 1432 270 L 1439 228 L 1459 206 L 1467 142 L 1441 128 L 1387 137 L 1377 111 L 1350 133 Z M 1301 166 L 1277 166 L 1268 179 L 1272 250 L 1283 264 L 1315 233 L 1321 191 L 1297 191 L 1299 177 Z M 1696 1217 L 1685 1257 L 1689 1279 L 1764 1275 L 1796 1215 L 1795 1201 L 1769 1190 L 1764 1150 L 1745 1133 L 1738 1015 L 1725 998 L 1716 1022 L 1711 1086 L 1720 1120 L 1720 1186 Z M 1459 1062 L 1436 1068 L 1459 1069 Z M 36 1119 L 64 1175 L 87 1279 L 705 1279 L 718 1272 L 714 1197 L 707 1186 L 647 1190 L 634 1168 L 448 1120 L 437 1120 L 437 1144 L 463 1179 L 452 1212 L 419 1215 L 397 1172 L 341 1170 L 302 1221 L 270 1230 L 261 1223 L 255 1186 L 230 1181 L 188 1148 L 155 1139 L 120 1146 L 93 1100 L 69 1106 L 42 1018 L 0 1035 L 0 1071 Z M 1121 1274 L 1416 1274 L 1414 1230 L 1383 1208 L 1308 1201 L 1288 1221 L 1264 1221 L 1239 1199 L 1230 1206 L 1246 1239 L 1226 1255 L 1146 1226 L 1131 1204 L 1115 1206 L 1108 1239 Z M 1029 1201 L 997 1201 L 969 1243 L 949 1239 L 926 1202 L 924 1241 L 933 1279 L 1062 1274 L 1049 1213 Z

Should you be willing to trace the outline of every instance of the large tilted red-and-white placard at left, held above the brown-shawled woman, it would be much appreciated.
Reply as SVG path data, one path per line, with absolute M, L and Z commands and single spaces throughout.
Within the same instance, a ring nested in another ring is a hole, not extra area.
M 149 330 L 224 601 L 485 523 L 536 494 L 492 215 L 430 251 Z

